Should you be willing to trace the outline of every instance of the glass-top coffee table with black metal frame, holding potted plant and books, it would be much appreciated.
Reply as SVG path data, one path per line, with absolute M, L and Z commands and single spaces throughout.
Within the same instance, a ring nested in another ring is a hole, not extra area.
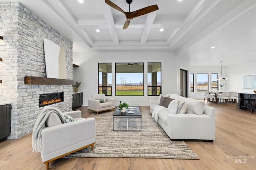
M 128 107 L 126 112 L 121 112 L 117 107 L 113 115 L 113 131 L 141 131 L 141 118 L 139 107 Z M 138 128 L 138 124 L 140 124 L 140 128 Z

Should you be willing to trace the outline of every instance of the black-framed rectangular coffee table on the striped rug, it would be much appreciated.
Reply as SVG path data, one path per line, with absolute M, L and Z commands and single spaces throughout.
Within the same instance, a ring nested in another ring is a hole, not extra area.
M 130 112 L 133 113 L 130 113 Z M 115 130 L 115 118 L 127 118 L 127 127 L 124 130 Z M 129 129 L 129 118 L 140 118 L 140 130 L 133 130 L 133 129 Z M 141 131 L 141 123 L 142 123 L 142 116 L 140 113 L 140 109 L 139 107 L 129 107 L 128 109 L 126 109 L 126 112 L 121 112 L 119 107 L 116 108 L 116 111 L 113 115 L 113 131 Z

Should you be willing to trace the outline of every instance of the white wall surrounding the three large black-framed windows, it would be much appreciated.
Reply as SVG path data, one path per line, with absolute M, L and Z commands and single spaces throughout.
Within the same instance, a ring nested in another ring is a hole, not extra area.
M 98 93 L 98 63 L 112 63 L 112 98 L 127 102 L 130 106 L 149 106 L 150 100 L 157 100 L 158 96 L 147 96 L 147 87 L 144 86 L 144 96 L 115 96 L 115 63 L 144 63 L 144 73 L 147 72 L 147 63 L 162 63 L 162 94 L 177 93 L 177 75 L 179 64 L 172 52 L 88 52 L 73 53 L 74 81 L 81 81 L 78 92 L 83 92 L 83 106 L 88 106 L 91 94 Z M 144 74 L 147 82 L 147 74 Z M 146 84 L 146 83 L 145 83 Z

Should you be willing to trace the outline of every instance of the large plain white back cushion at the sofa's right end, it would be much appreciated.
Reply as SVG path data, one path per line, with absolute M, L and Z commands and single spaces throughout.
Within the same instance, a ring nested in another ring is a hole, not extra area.
M 187 104 L 186 113 L 196 113 L 197 115 L 203 114 L 205 106 L 203 101 L 192 98 L 182 98 L 182 100 Z

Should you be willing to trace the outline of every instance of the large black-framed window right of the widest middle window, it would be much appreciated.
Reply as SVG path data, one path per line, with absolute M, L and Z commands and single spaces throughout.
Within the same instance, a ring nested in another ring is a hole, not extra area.
M 161 93 L 161 63 L 148 63 L 148 96 L 159 96 Z

